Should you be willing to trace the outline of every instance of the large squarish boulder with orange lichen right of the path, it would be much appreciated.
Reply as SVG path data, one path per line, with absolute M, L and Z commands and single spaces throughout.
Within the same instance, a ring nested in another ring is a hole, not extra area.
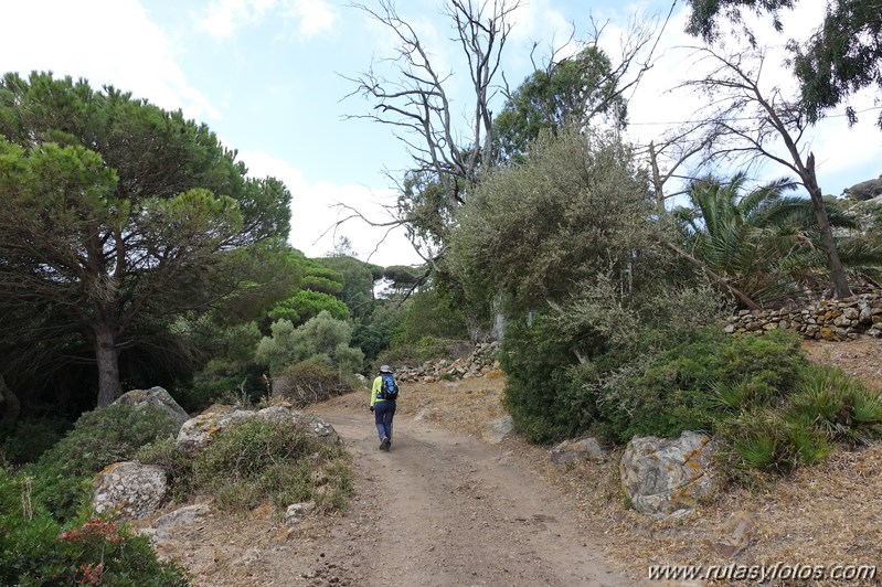
M 668 516 L 692 511 L 714 489 L 713 442 L 698 433 L 634 438 L 621 456 L 621 488 L 637 511 Z

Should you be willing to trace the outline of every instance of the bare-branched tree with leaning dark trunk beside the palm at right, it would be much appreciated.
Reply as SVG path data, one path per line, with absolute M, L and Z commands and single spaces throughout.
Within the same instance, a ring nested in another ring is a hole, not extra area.
M 706 46 L 692 49 L 698 63 L 709 64 L 711 71 L 700 79 L 686 82 L 683 87 L 708 98 L 700 119 L 719 137 L 711 154 L 718 161 L 747 164 L 772 161 L 795 173 L 811 199 L 835 296 L 851 295 L 818 185 L 815 153 L 804 140 L 811 124 L 801 105 L 787 99 L 779 86 L 761 86 L 765 60 L 762 50 L 726 54 Z M 782 146 L 784 152 L 777 150 Z

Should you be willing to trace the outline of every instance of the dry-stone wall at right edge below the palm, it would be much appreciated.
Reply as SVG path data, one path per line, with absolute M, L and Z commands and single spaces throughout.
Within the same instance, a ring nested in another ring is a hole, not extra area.
M 805 308 L 741 310 L 729 319 L 729 334 L 787 328 L 806 339 L 843 341 L 861 335 L 882 338 L 882 292 L 841 300 L 820 300 Z

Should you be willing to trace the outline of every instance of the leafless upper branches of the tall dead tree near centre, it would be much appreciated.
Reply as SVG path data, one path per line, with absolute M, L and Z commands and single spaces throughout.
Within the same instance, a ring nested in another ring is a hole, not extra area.
M 448 0 L 445 13 L 455 31 L 455 41 L 468 63 L 472 104 L 470 136 L 457 137 L 447 84 L 453 73 L 438 72 L 426 46 L 413 26 L 403 20 L 391 0 L 381 0 L 379 10 L 353 4 L 392 31 L 399 41 L 396 54 L 383 60 L 392 65 L 394 78 L 379 73 L 374 65 L 358 77 L 350 77 L 360 94 L 374 104 L 373 113 L 351 115 L 393 127 L 413 157 L 414 172 L 432 173 L 453 204 L 461 204 L 465 191 L 477 181 L 482 161 L 489 160 L 492 114 L 489 109 L 493 78 L 499 71 L 502 49 L 511 31 L 509 18 L 520 0 Z

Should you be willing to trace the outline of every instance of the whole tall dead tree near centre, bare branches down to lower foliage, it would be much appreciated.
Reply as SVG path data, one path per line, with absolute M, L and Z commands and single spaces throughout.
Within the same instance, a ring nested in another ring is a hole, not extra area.
M 346 218 L 359 217 L 373 226 L 404 227 L 414 249 L 432 270 L 444 256 L 444 234 L 438 231 L 437 218 L 449 216 L 465 202 L 466 193 L 477 183 L 480 171 L 492 161 L 492 113 L 496 77 L 499 73 L 502 50 L 511 31 L 512 12 L 520 0 L 447 0 L 444 14 L 454 30 L 453 41 L 467 64 L 471 87 L 469 106 L 455 111 L 449 94 L 453 72 L 442 72 L 433 65 L 432 54 L 414 28 L 397 12 L 393 0 L 380 0 L 378 8 L 362 3 L 351 4 L 362 10 L 393 34 L 397 42 L 394 54 L 371 64 L 355 77 L 349 95 L 360 95 L 372 109 L 369 114 L 346 118 L 373 120 L 392 128 L 413 159 L 404 179 L 392 177 L 400 193 L 393 220 L 365 218 L 357 210 L 346 207 Z M 347 96 L 347 97 L 349 97 Z M 468 120 L 460 130 L 458 122 Z M 418 184 L 423 185 L 418 185 Z M 432 205 L 419 189 L 431 183 L 435 193 Z M 438 193 L 439 192 L 439 193 Z M 433 207 L 428 222 L 423 214 Z M 424 226 L 419 226 L 421 223 Z M 339 223 L 338 223 L 339 224 Z M 428 225 L 426 227 L 425 225 Z

